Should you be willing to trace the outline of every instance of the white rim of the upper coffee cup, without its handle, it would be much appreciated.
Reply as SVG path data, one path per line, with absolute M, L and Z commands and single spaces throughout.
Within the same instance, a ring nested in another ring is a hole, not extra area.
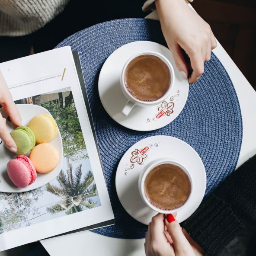
M 136 99 L 134 96 L 131 95 L 131 93 L 128 92 L 128 90 L 126 89 L 126 86 L 125 86 L 125 82 L 124 82 L 125 70 L 126 70 L 126 67 L 128 66 L 128 64 L 134 58 L 136 58 L 136 57 L 138 57 L 140 55 L 144 55 L 144 54 L 154 55 L 154 56 L 157 56 L 158 58 L 160 58 L 168 66 L 168 68 L 170 70 L 170 73 L 171 73 L 171 82 L 170 82 L 169 89 L 167 90 L 167 92 L 161 98 L 159 98 L 157 100 L 154 100 L 154 101 L 142 101 L 142 100 Z M 175 73 L 174 73 L 173 65 L 170 63 L 170 61 L 163 54 L 160 54 L 160 53 L 158 53 L 156 51 L 141 51 L 141 52 L 131 56 L 125 62 L 125 65 L 124 65 L 124 67 L 122 69 L 121 86 L 122 86 L 123 92 L 126 94 L 125 96 L 126 97 L 128 96 L 129 100 L 133 101 L 135 104 L 137 103 L 137 104 L 144 105 L 144 106 L 150 106 L 150 105 L 157 105 L 158 103 L 162 102 L 163 100 L 165 100 L 170 95 L 170 92 L 171 92 L 171 90 L 173 88 L 174 80 L 175 80 Z

